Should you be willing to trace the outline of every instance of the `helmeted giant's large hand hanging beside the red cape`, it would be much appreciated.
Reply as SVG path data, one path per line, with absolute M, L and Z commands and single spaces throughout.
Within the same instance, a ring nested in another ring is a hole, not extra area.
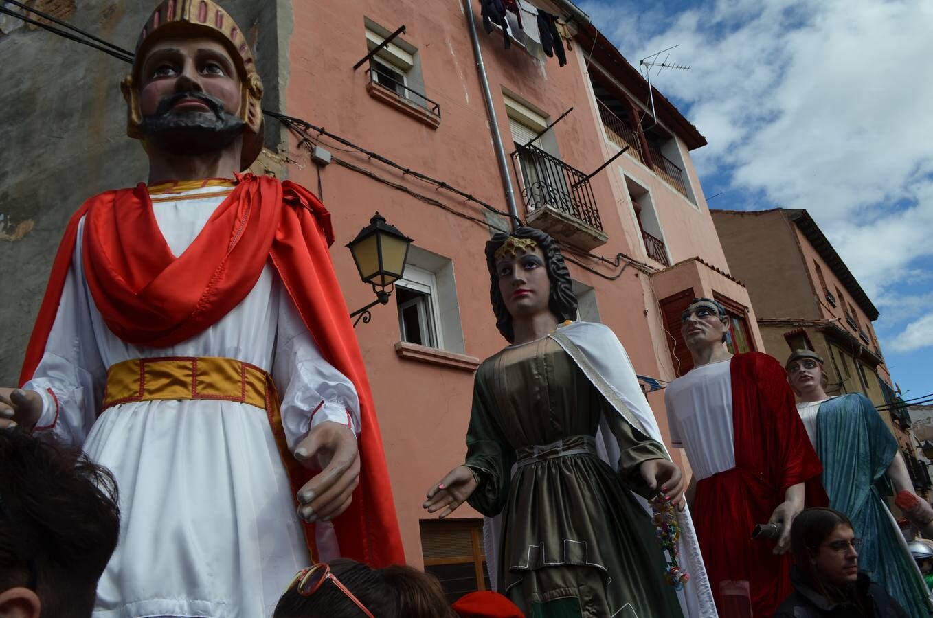
M 353 430 L 329 420 L 322 422 L 299 442 L 295 459 L 306 468 L 323 468 L 299 489 L 299 517 L 311 524 L 346 511 L 359 485 L 359 450 Z

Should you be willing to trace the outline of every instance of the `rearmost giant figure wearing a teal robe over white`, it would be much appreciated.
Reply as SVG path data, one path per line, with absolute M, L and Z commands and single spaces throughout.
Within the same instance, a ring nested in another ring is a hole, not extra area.
M 898 494 L 916 506 L 912 520 L 933 516 L 929 504 L 914 494 L 898 441 L 868 397 L 858 392 L 829 397 L 823 359 L 813 350 L 794 350 L 785 363 L 787 381 L 801 400 L 797 410 L 810 442 L 823 463 L 823 487 L 829 506 L 844 513 L 865 540 L 863 570 L 884 586 L 910 615 L 929 616 L 929 591 L 877 486 L 886 476 Z

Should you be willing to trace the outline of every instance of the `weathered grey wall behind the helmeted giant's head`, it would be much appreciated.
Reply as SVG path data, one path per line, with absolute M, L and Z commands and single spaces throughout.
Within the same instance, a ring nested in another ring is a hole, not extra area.
M 281 38 L 291 31 L 290 0 L 219 4 L 255 43 L 267 93 L 263 104 L 277 109 L 284 86 L 279 48 Z M 39 8 L 56 11 L 60 19 L 132 50 L 157 3 L 84 0 L 74 5 L 47 0 Z M 91 195 L 145 181 L 147 167 L 139 143 L 126 136 L 119 81 L 130 65 L 45 30 L 17 27 L 21 22 L 12 18 L 4 23 L 8 34 L 0 34 L 5 77 L 0 89 L 0 384 L 13 385 L 71 213 Z M 267 145 L 275 147 L 281 135 L 279 127 L 269 128 Z

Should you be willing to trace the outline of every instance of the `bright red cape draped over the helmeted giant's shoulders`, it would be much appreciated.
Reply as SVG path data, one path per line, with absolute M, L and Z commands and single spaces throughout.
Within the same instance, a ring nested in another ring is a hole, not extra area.
M 369 380 L 330 261 L 330 213 L 300 185 L 252 174 L 237 181 L 177 259 L 161 237 L 146 185 L 86 201 L 65 228 L 55 255 L 20 383 L 33 378 L 42 359 L 83 216 L 82 259 L 94 303 L 107 326 L 136 345 L 171 346 L 216 323 L 249 293 L 271 258 L 321 353 L 353 382 L 359 396 L 362 470 L 353 502 L 334 520 L 341 555 L 377 568 L 403 563 Z M 293 488 L 313 475 L 285 463 L 289 473 L 298 471 L 292 474 Z

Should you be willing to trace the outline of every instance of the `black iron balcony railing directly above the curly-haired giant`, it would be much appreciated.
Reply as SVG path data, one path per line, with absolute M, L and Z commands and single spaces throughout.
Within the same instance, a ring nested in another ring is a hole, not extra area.
M 602 231 L 590 178 L 533 145 L 512 153 L 522 172 L 522 198 L 529 213 L 550 206 Z

